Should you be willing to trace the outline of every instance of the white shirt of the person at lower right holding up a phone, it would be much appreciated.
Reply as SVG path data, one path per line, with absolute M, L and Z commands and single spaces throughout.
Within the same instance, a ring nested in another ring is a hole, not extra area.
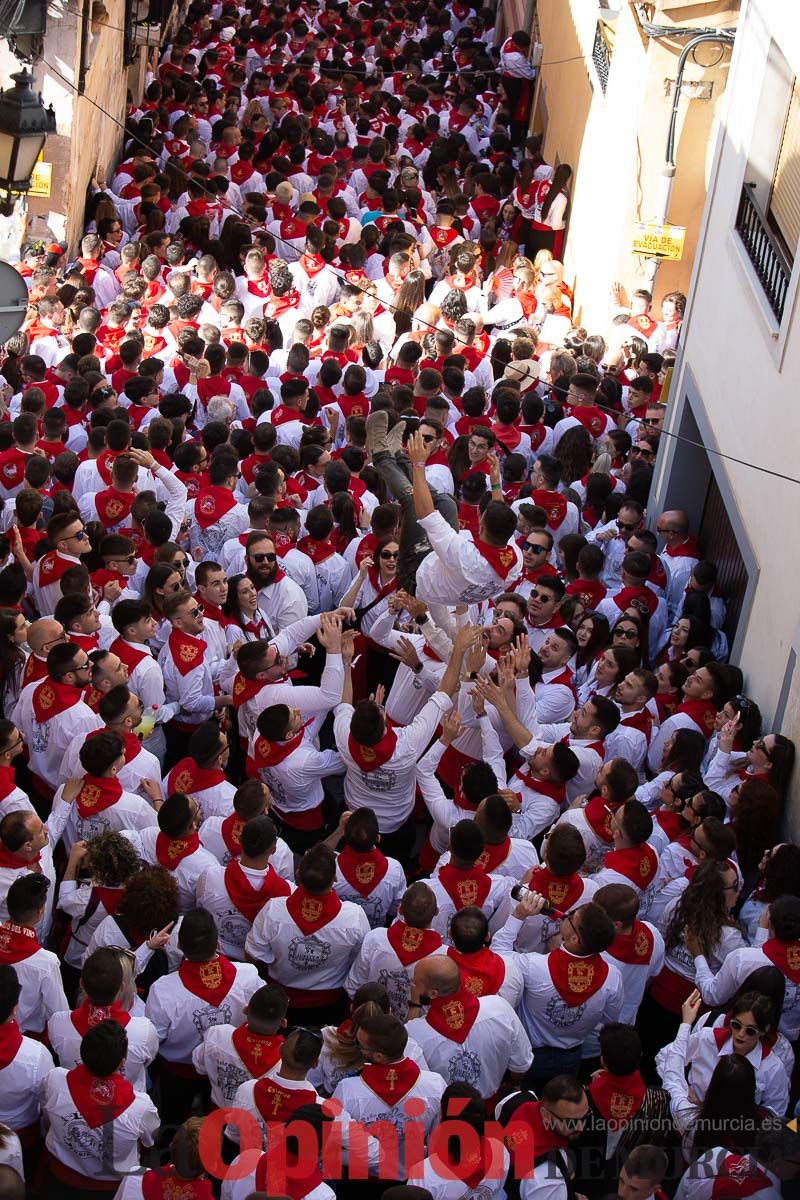
M 494 949 L 512 949 L 521 924 L 516 917 L 510 917 L 494 935 Z M 579 1045 L 597 1026 L 619 1020 L 625 998 L 622 979 L 616 967 L 609 966 L 602 988 L 581 1004 L 566 1004 L 553 985 L 548 956 L 519 955 L 519 970 L 525 984 L 519 1012 L 534 1046 L 567 1050 Z

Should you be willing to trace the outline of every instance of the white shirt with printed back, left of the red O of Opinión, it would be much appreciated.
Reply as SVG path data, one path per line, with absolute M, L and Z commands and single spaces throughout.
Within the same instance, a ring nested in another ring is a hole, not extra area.
M 160 1126 L 150 1097 L 134 1092 L 133 1100 L 113 1124 L 90 1129 L 72 1102 L 62 1067 L 55 1067 L 42 1085 L 42 1110 L 48 1122 L 46 1145 L 53 1157 L 95 1180 L 113 1181 L 118 1172 L 138 1170 L 139 1145 L 152 1146 Z M 109 1152 L 114 1156 L 113 1174 L 107 1170 Z

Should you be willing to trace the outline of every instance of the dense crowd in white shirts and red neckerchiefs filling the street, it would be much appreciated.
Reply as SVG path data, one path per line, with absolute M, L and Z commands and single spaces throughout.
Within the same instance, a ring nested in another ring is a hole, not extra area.
M 23 247 L 0 1200 L 798 1174 L 794 746 L 648 509 L 685 296 L 578 323 L 533 78 L 469 0 L 193 0 Z

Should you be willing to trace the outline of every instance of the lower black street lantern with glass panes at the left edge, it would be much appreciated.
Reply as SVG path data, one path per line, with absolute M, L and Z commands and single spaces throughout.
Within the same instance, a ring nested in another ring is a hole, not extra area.
M 48 133 L 55 133 L 53 106 L 44 108 L 41 95 L 31 90 L 32 77 L 18 71 L 13 88 L 0 91 L 0 192 L 6 199 L 0 212 L 10 216 L 17 196 L 31 186 L 34 167 Z

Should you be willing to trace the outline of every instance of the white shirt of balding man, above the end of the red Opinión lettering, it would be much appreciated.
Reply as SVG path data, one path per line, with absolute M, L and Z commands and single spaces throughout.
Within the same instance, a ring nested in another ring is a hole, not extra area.
M 422 1046 L 431 1069 L 446 1084 L 471 1084 L 488 1099 L 498 1091 L 506 1070 L 519 1075 L 528 1070 L 533 1052 L 511 1004 L 500 996 L 481 996 L 477 1003 L 475 1024 L 461 1043 L 438 1033 L 425 1016 L 414 1018 L 407 1028 Z

